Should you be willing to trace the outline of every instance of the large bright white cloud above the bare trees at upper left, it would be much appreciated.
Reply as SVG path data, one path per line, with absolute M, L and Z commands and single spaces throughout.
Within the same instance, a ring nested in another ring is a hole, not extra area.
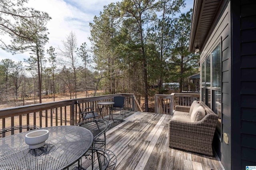
M 94 14 L 86 14 L 63 0 L 30 0 L 28 6 L 47 12 L 52 18 L 47 23 L 50 34 L 46 46 L 60 46 L 71 31 L 76 33 L 78 44 L 88 41 L 89 22 Z

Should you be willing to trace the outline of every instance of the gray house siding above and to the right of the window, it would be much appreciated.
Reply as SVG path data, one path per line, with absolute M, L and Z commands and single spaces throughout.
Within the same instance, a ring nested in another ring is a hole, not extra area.
M 225 169 L 231 169 L 231 142 L 226 144 L 222 140 L 223 133 L 231 139 L 231 40 L 230 40 L 230 4 L 222 11 L 209 39 L 206 41 L 200 56 L 202 63 L 221 42 L 222 49 L 222 125 L 221 134 L 214 135 L 213 146 L 221 158 Z

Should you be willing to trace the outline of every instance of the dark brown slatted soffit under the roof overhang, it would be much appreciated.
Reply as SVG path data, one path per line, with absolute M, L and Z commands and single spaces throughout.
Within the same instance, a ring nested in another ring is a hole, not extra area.
M 221 0 L 194 0 L 189 51 L 200 51 L 214 25 Z

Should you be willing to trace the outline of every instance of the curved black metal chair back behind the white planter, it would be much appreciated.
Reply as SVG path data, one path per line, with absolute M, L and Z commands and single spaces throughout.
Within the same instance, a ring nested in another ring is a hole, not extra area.
M 40 129 L 40 128 L 41 128 L 40 126 L 36 126 L 36 125 L 17 125 L 12 127 L 6 127 L 0 130 L 0 138 L 14 135 L 16 133 L 21 133 L 25 131 L 34 130 L 34 129 Z

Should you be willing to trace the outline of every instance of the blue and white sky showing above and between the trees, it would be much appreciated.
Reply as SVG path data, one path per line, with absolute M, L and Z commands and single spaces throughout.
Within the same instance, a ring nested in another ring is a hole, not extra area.
M 111 2 L 118 2 L 119 0 L 28 0 L 27 7 L 35 10 L 47 12 L 52 18 L 48 21 L 46 27 L 48 28 L 49 41 L 45 45 L 45 49 L 50 46 L 57 49 L 62 47 L 62 41 L 73 31 L 76 34 L 77 47 L 84 42 L 90 46 L 90 26 L 93 22 L 94 16 L 99 16 L 103 11 L 104 6 Z M 185 0 L 186 7 L 181 9 L 181 13 L 188 12 L 193 8 L 194 0 Z M 6 36 L 1 39 L 9 39 Z M 15 62 L 24 61 L 29 58 L 29 53 L 12 55 L 0 49 L 0 61 L 2 59 L 12 59 Z M 48 54 L 45 53 L 48 57 Z

